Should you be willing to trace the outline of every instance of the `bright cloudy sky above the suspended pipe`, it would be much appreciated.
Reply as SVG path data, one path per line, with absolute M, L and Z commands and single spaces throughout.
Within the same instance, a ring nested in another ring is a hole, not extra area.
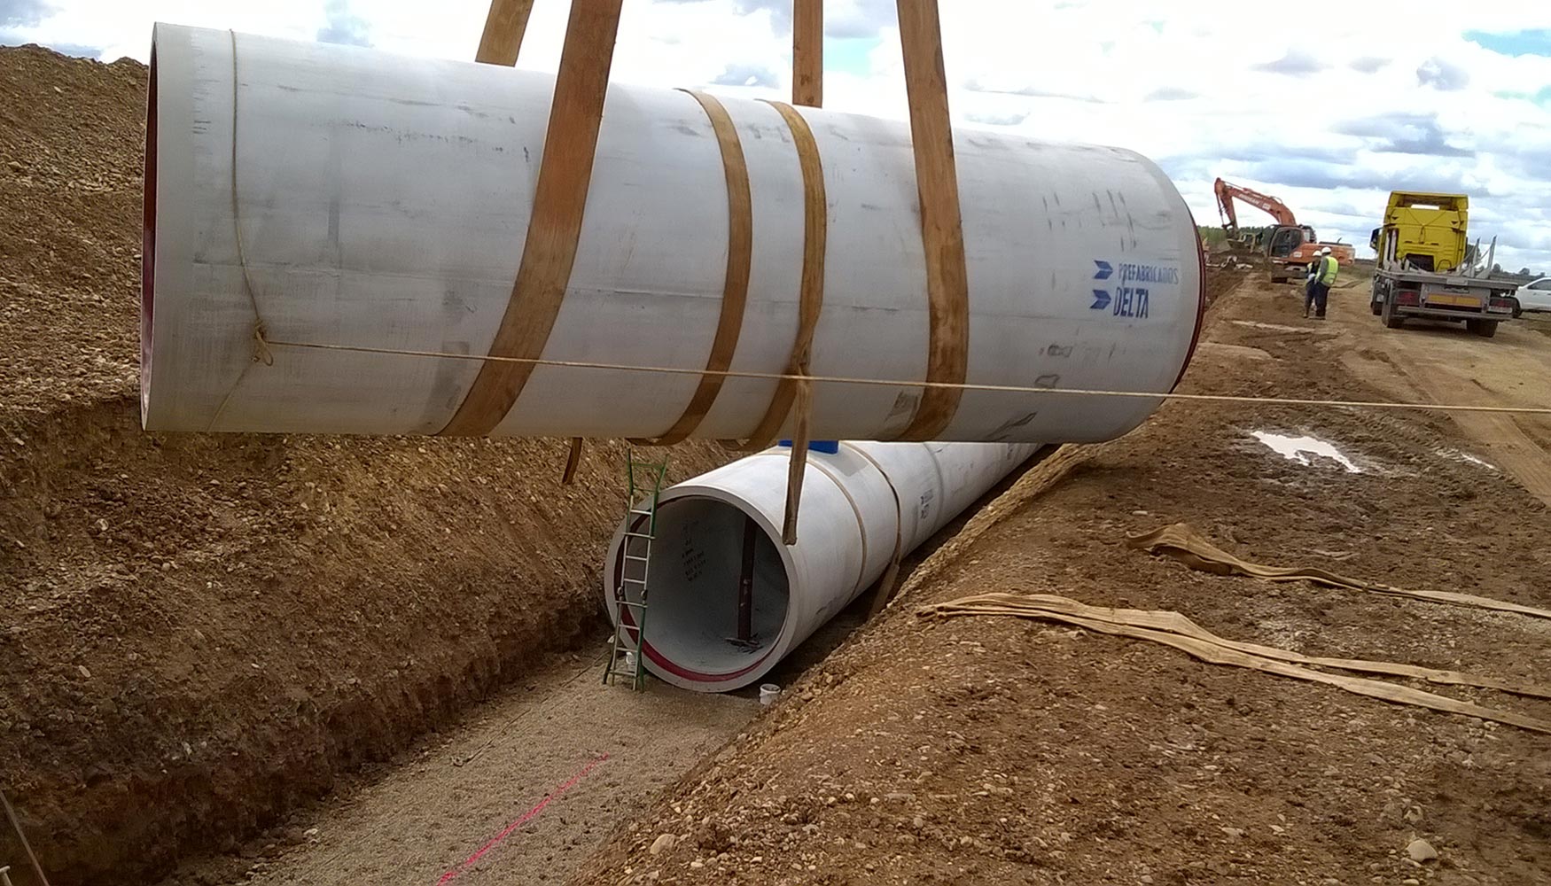
M 558 59 L 537 0 L 521 67 Z M 904 116 L 893 0 L 827 0 L 830 107 Z M 1390 189 L 1461 191 L 1508 270 L 1551 273 L 1551 0 L 1275 5 L 941 0 L 954 115 L 1157 160 L 1202 223 L 1211 182 L 1280 196 L 1366 251 Z M 0 43 L 112 61 L 150 23 L 472 57 L 487 0 L 0 0 Z M 789 92 L 791 0 L 627 0 L 616 79 Z M 1314 11 L 1325 9 L 1325 16 Z M 1261 216 L 1241 213 L 1245 223 Z

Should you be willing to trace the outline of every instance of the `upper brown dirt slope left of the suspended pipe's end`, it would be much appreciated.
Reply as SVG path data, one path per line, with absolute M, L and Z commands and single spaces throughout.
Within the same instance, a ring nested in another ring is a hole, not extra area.
M 0 408 L 130 394 L 146 67 L 0 50 Z

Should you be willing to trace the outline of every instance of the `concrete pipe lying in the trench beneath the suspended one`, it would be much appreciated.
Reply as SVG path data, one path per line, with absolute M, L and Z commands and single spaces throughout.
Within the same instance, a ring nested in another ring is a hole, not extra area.
M 782 545 L 786 450 L 771 448 L 662 492 L 645 563 L 645 666 L 659 678 L 726 692 L 757 683 L 889 568 L 986 493 L 1039 447 L 844 442 L 808 453 L 802 535 Z M 647 517 L 614 532 L 603 600 L 639 602 Z M 896 548 L 898 546 L 898 548 Z M 628 611 L 639 611 L 625 607 Z

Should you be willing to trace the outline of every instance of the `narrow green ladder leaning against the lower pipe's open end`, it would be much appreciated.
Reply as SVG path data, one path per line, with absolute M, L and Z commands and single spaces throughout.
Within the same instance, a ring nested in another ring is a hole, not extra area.
M 625 506 L 625 537 L 619 545 L 619 583 L 614 585 L 614 633 L 608 641 L 608 669 L 603 683 L 630 678 L 636 692 L 647 687 L 647 667 L 642 656 L 647 630 L 647 576 L 651 569 L 651 542 L 658 535 L 658 497 L 668 462 L 641 461 L 631 448 L 625 462 L 625 479 L 630 484 Z M 650 495 L 647 495 L 650 492 Z M 644 518 L 644 520 L 642 520 Z M 645 523 L 645 526 L 641 526 Z M 644 529 L 644 531 L 642 531 Z M 633 625 L 633 627 L 627 627 Z M 620 638 L 625 633 L 625 638 Z

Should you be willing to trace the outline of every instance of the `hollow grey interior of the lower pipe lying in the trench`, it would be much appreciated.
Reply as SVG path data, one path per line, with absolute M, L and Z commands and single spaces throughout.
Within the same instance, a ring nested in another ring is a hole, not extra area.
M 675 498 L 658 507 L 647 600 L 647 644 L 658 666 L 681 677 L 717 680 L 763 661 L 786 622 L 789 577 L 779 542 L 754 532 L 752 614 L 748 639 L 738 638 L 738 585 L 744 529 L 738 507 L 713 498 Z M 641 552 L 642 538 L 625 542 Z M 639 574 L 639 562 L 616 566 Z M 631 596 L 639 585 L 628 585 Z

